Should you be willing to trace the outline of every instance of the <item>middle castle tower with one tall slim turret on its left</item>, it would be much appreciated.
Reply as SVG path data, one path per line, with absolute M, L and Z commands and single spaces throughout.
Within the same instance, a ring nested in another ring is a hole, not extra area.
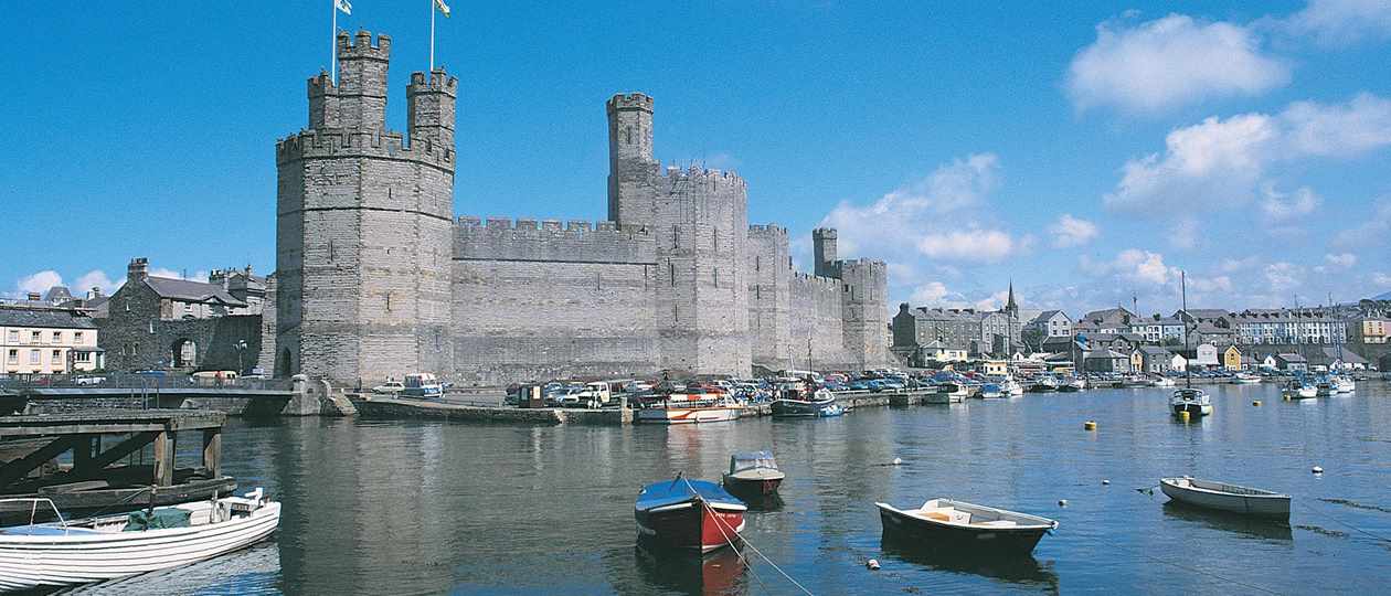
M 662 368 L 748 374 L 748 190 L 733 172 L 665 171 L 652 158 L 652 99 L 616 94 L 609 121 L 609 218 L 657 240 Z

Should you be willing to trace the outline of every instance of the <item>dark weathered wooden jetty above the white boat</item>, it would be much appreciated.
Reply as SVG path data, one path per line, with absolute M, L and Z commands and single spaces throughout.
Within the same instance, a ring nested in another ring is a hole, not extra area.
M 0 457 L 7 458 L 0 465 L 0 499 L 46 497 L 68 515 L 228 495 L 236 481 L 221 474 L 225 421 L 227 414 L 200 410 L 0 417 Z M 179 432 L 200 432 L 202 465 L 175 467 Z M 122 463 L 150 445 L 152 463 Z M 68 453 L 71 464 L 57 465 Z M 29 503 L 0 502 L 0 522 L 28 522 L 31 510 Z

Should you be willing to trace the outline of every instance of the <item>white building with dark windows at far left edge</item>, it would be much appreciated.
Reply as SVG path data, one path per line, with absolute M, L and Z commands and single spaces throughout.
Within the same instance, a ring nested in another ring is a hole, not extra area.
M 92 318 L 75 308 L 0 306 L 0 372 L 71 374 L 104 367 Z

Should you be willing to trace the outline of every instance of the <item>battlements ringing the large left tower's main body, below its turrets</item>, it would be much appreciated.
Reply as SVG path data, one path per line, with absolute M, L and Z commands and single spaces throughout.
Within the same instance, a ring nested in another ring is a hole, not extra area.
M 275 142 L 275 164 L 324 157 L 383 157 L 427 163 L 453 171 L 453 147 L 417 143 L 408 146 L 394 131 L 306 129 Z

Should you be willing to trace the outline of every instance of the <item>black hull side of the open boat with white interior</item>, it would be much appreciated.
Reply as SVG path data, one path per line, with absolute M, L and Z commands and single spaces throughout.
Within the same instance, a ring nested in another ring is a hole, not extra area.
M 961 528 L 907 515 L 879 507 L 885 539 L 943 553 L 971 552 L 992 556 L 1028 556 L 1038 546 L 1046 528 Z

